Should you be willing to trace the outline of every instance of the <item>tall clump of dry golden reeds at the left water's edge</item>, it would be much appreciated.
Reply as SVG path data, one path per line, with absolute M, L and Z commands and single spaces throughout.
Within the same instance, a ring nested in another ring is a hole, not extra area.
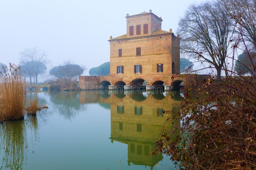
M 10 63 L 0 74 L 0 122 L 24 117 L 26 85 L 20 67 Z

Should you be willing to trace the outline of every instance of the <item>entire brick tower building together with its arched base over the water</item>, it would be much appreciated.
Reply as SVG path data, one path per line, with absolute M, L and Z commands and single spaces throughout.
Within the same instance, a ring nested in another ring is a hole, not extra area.
M 180 37 L 175 36 L 172 29 L 169 32 L 161 30 L 162 21 L 151 10 L 131 16 L 127 14 L 126 34 L 116 38 L 110 36 L 108 40 L 110 75 L 80 76 L 80 88 L 93 89 L 97 84 L 103 87 L 138 87 L 145 83 L 180 88 L 180 83 L 187 81 L 185 76 L 179 74 Z

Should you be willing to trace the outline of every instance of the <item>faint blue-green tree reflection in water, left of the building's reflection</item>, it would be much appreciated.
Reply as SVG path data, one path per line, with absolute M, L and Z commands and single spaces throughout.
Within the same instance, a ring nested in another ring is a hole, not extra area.
M 50 100 L 54 103 L 54 108 L 58 109 L 60 115 L 65 119 L 75 117 L 77 110 L 81 110 L 84 107 L 79 104 L 78 92 L 51 92 Z

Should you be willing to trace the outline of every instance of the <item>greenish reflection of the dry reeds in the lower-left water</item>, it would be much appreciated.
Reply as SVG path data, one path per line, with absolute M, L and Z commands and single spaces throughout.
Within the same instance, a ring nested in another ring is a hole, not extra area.
M 0 154 L 3 158 L 0 169 L 22 169 L 28 152 L 28 131 L 31 131 L 32 140 L 36 141 L 38 137 L 36 116 L 0 124 Z

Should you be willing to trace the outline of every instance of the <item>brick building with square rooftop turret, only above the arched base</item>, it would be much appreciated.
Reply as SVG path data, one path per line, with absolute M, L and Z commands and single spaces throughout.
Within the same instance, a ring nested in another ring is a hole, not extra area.
M 180 72 L 180 39 L 161 30 L 152 11 L 126 16 L 126 34 L 110 42 L 110 75 L 176 74 Z

